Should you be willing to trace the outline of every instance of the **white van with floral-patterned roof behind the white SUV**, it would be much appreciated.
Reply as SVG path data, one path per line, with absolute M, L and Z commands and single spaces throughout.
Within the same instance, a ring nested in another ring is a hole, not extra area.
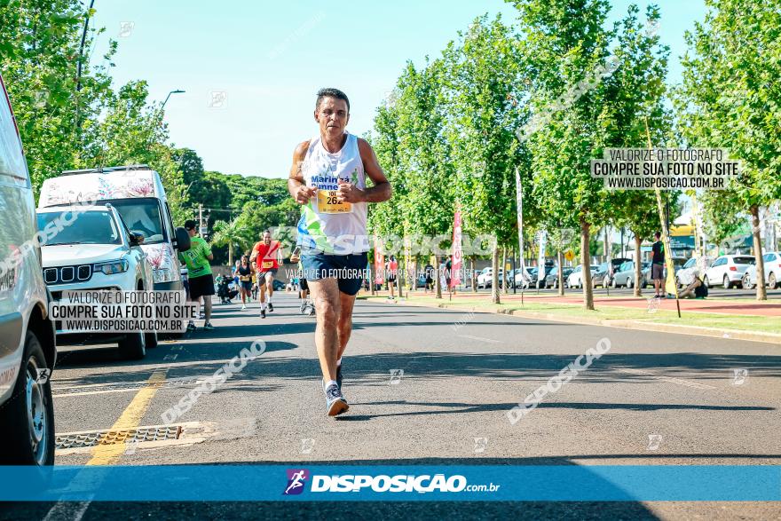
M 157 172 L 146 165 L 68 170 L 43 181 L 38 209 L 83 201 L 111 203 L 130 232 L 144 234 L 141 248 L 152 264 L 155 290 L 184 290 L 176 250 L 190 249 L 190 236 L 174 227 Z

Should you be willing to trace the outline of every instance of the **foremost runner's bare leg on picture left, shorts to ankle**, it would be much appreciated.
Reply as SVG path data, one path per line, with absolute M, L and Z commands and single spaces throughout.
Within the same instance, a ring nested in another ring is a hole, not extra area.
M 339 358 L 338 320 L 341 293 L 335 279 L 308 280 L 317 312 L 314 342 L 317 346 L 320 370 L 326 382 L 336 380 L 336 359 Z

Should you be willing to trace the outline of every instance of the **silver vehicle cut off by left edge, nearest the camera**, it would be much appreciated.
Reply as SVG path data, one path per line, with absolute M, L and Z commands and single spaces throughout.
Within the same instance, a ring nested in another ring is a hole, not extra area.
M 8 464 L 54 462 L 57 349 L 37 232 L 28 165 L 0 77 L 0 462 Z

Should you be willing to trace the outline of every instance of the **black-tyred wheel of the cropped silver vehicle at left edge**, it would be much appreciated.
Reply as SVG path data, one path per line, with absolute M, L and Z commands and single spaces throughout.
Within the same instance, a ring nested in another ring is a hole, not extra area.
M 43 370 L 46 373 L 42 373 Z M 43 377 L 45 375 L 45 377 Z M 54 404 L 51 367 L 38 337 L 28 331 L 21 370 L 11 399 L 0 407 L 0 461 L 12 465 L 54 464 Z

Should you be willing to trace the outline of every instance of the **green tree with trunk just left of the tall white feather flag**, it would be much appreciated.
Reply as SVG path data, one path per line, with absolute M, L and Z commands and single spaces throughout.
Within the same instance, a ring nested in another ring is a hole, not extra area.
M 451 42 L 443 53 L 454 163 L 447 177 L 455 180 L 454 198 L 466 229 L 495 237 L 492 301 L 498 304 L 500 248 L 517 242 L 515 170 L 521 166 L 528 172 L 515 134 L 522 122 L 517 100 L 524 97 L 525 61 L 501 17 L 477 18 L 463 36 L 460 45 Z M 453 212 L 447 213 L 452 223 Z

